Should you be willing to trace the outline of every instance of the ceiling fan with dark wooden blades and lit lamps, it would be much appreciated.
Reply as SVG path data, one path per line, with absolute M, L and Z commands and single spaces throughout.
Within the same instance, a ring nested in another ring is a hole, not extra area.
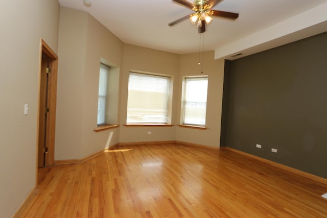
M 231 20 L 235 20 L 239 17 L 239 14 L 226 12 L 226 11 L 217 11 L 211 10 L 211 8 L 215 7 L 218 3 L 223 0 L 195 0 L 194 3 L 190 3 L 186 0 L 173 0 L 173 2 L 179 3 L 186 8 L 190 8 L 194 11 L 193 14 L 186 15 L 182 18 L 179 18 L 173 22 L 168 23 L 169 26 L 174 26 L 175 24 L 190 19 L 191 23 L 198 27 L 198 32 L 205 32 L 205 25 L 208 25 L 213 19 L 211 16 L 222 17 Z

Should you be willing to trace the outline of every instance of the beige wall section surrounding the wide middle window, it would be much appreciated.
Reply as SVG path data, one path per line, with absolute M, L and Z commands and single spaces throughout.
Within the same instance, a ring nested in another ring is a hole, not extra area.
M 120 124 L 126 124 L 128 74 L 130 70 L 152 72 L 173 77 L 172 124 L 176 124 L 177 91 L 179 84 L 180 55 L 135 45 L 124 45 L 121 83 Z M 150 131 L 151 134 L 147 134 Z M 175 140 L 176 127 L 124 127 L 120 129 L 120 142 Z

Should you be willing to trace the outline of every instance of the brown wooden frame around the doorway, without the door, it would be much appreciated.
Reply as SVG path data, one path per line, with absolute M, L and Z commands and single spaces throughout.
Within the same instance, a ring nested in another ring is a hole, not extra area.
M 38 81 L 38 111 L 37 117 L 40 114 L 40 83 L 41 83 L 41 66 L 42 66 L 42 53 L 50 58 L 49 67 L 51 73 L 49 75 L 49 134 L 46 138 L 48 144 L 48 153 L 45 154 L 45 166 L 51 166 L 55 162 L 55 130 L 56 130 L 56 103 L 57 103 L 57 72 L 58 72 L 58 56 L 46 44 L 46 42 L 40 39 L 40 52 L 39 52 L 39 81 Z M 37 118 L 38 119 L 38 118 Z M 37 144 L 36 144 L 36 170 L 38 162 L 38 138 L 39 138 L 39 120 L 37 120 Z M 37 175 L 37 174 L 36 174 Z M 37 179 L 36 179 L 37 181 Z

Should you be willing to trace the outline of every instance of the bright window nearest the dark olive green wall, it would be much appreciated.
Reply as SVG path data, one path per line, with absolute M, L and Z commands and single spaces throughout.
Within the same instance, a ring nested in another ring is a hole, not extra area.
M 182 124 L 205 126 L 208 77 L 188 77 L 183 82 Z

